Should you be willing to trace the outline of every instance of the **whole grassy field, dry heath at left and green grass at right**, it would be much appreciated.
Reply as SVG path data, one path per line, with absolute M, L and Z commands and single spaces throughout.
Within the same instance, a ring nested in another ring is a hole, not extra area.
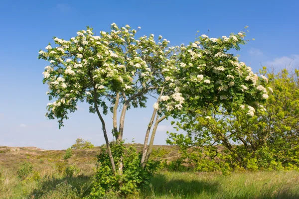
M 0 199 L 81 199 L 90 192 L 98 150 L 73 150 L 72 157 L 64 160 L 65 151 L 0 147 Z M 32 172 L 19 177 L 24 162 L 33 165 Z M 299 172 L 223 176 L 162 170 L 141 190 L 139 198 L 299 199 Z

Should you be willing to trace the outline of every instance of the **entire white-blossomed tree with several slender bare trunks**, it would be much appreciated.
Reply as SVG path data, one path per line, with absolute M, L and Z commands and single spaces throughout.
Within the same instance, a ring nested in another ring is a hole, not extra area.
M 77 109 L 78 101 L 89 103 L 90 112 L 96 113 L 102 123 L 114 175 L 116 163 L 102 116 L 109 110 L 113 113 L 113 135 L 117 143 L 122 143 L 127 109 L 146 107 L 149 96 L 157 98 L 140 163 L 145 168 L 157 126 L 163 119 L 196 116 L 198 109 L 210 107 L 230 112 L 240 105 L 246 105 L 248 114 L 253 115 L 255 102 L 268 98 L 251 68 L 227 52 L 245 44 L 244 32 L 218 39 L 202 35 L 190 45 L 170 47 L 162 36 L 156 40 L 153 34 L 136 39 L 138 30 L 113 23 L 109 33 L 95 35 L 88 27 L 70 40 L 55 37 L 56 47 L 49 44 L 46 51 L 39 51 L 39 59 L 50 62 L 43 83 L 48 84 L 49 100 L 54 101 L 48 103 L 46 116 L 58 118 L 60 128 L 68 112 Z M 122 158 L 117 164 L 122 174 Z

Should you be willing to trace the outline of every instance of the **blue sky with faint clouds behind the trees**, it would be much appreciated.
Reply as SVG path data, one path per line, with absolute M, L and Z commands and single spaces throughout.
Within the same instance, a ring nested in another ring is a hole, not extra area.
M 141 26 L 142 35 L 162 35 L 170 44 L 193 41 L 199 34 L 221 37 L 249 26 L 248 44 L 240 60 L 257 72 L 261 65 L 299 66 L 299 1 L 297 0 L 114 0 L 34 1 L 3 0 L 0 5 L 0 145 L 65 149 L 76 138 L 104 144 L 101 124 L 88 106 L 79 104 L 62 129 L 47 120 L 47 86 L 42 84 L 46 62 L 38 60 L 52 37 L 69 39 L 87 25 L 96 32 L 119 26 Z M 124 136 L 143 143 L 152 111 L 129 110 Z M 108 131 L 112 120 L 106 118 Z M 169 121 L 160 123 L 155 144 L 165 144 Z

